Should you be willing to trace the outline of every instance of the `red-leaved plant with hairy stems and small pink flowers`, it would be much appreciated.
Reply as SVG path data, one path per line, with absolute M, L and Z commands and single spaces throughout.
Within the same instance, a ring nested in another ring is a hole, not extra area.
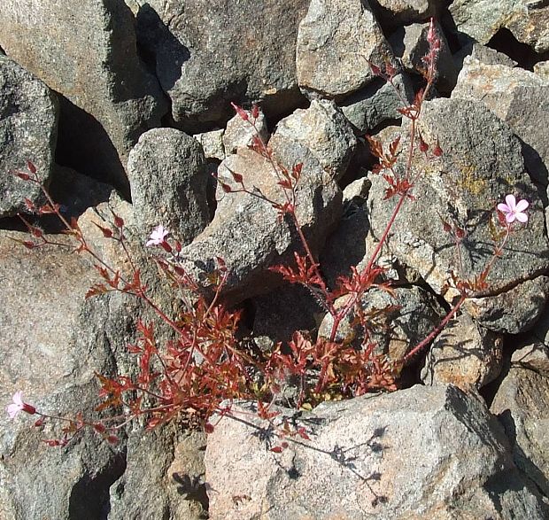
M 491 260 L 473 280 L 462 279 L 462 269 L 458 265 L 457 274 L 454 273 L 452 279 L 459 298 L 454 301 L 452 309 L 442 322 L 427 338 L 409 349 L 402 359 L 391 360 L 385 354 L 375 353 L 376 344 L 372 339 L 372 330 L 375 326 L 374 314 L 380 310 L 366 311 L 362 301 L 373 288 L 388 293 L 392 291 L 390 283 L 383 279 L 385 269 L 377 262 L 401 208 L 405 204 L 413 203 L 414 186 L 422 173 L 421 167 L 415 167 L 418 153 L 427 162 L 435 161 L 443 154 L 438 141 L 427 143 L 416 128 L 421 107 L 437 76 L 440 40 L 432 23 L 427 39 L 429 52 L 423 58 L 422 71 L 425 87 L 417 93 L 412 105 L 407 105 L 406 100 L 401 99 L 404 107 L 400 109 L 400 113 L 409 121 L 406 146 L 402 145 L 400 137 L 393 140 L 388 147 L 383 146 L 375 137 L 367 137 L 370 149 L 378 159 L 373 173 L 383 175 L 387 182 L 385 198 L 396 200 L 396 204 L 366 266 L 352 268 L 351 274 L 341 277 L 334 288 L 322 276 L 319 262 L 313 255 L 296 213 L 296 189 L 303 175 L 303 166 L 281 165 L 273 151 L 259 137 L 259 131 L 255 127 L 259 109 L 253 107 L 251 113 L 248 113 L 234 105 L 241 119 L 256 130 L 251 148 L 271 165 L 280 186 L 280 199 L 268 198 L 257 187 L 248 186 L 244 176 L 235 171 L 230 171 L 231 178 L 218 178 L 220 189 L 228 197 L 231 193 L 244 192 L 250 197 L 260 198 L 273 207 L 280 220 L 288 219 L 293 224 L 298 234 L 300 250 L 294 253 L 295 265 L 276 266 L 272 270 L 290 283 L 304 285 L 320 302 L 332 320 L 327 338 L 312 338 L 304 332 L 296 331 L 288 345 L 275 345 L 272 352 L 262 353 L 249 348 L 239 330 L 241 312 L 228 308 L 223 303 L 223 290 L 230 276 L 224 260 L 215 259 L 216 268 L 206 274 L 205 281 L 199 283 L 182 266 L 182 244 L 169 238 L 168 229 L 159 225 L 152 231 L 145 245 L 160 247 L 164 251 L 155 261 L 174 288 L 182 294 L 184 304 L 179 314 L 166 313 L 154 302 L 143 283 L 140 269 L 135 266 L 128 250 L 125 223 L 119 216 L 112 215 L 111 226 L 97 224 L 97 227 L 101 229 L 105 239 L 120 244 L 128 259 L 131 276 L 123 275 L 119 269 L 105 263 L 92 250 L 78 222 L 74 219 L 67 221 L 60 207 L 43 188 L 34 165 L 29 163 L 28 172 L 19 172 L 18 175 L 23 180 L 41 186 L 48 198 L 48 203 L 41 207 L 35 207 L 27 200 L 28 210 L 38 214 L 56 214 L 65 225 L 66 234 L 76 244 L 74 251 L 87 253 L 94 260 L 102 281 L 88 291 L 87 297 L 119 291 L 142 299 L 160 321 L 173 330 L 174 339 L 162 347 L 155 338 L 155 325 L 137 323 L 140 337 L 134 345 L 128 345 L 128 352 L 135 355 L 137 361 L 136 376 L 97 375 L 101 384 L 100 396 L 104 398 L 97 411 L 112 412 L 111 416 L 101 421 L 84 420 L 83 414 L 74 418 L 42 414 L 35 407 L 24 403 L 19 392 L 15 394 L 14 402 L 9 407 L 10 415 L 15 416 L 19 411 L 41 415 L 40 420 L 35 423 L 36 426 L 41 426 L 45 419 L 66 423 L 59 439 L 45 441 L 51 446 L 63 446 L 84 427 L 91 427 L 104 439 L 115 442 L 118 439 L 117 432 L 139 417 L 145 419 L 148 428 L 153 428 L 176 415 L 185 414 L 198 418 L 205 424 L 206 431 L 211 431 L 213 425 L 207 422 L 209 416 L 214 412 L 220 416 L 231 414 L 230 406 L 221 404 L 226 400 L 257 400 L 258 415 L 274 420 L 277 413 L 271 410 L 271 404 L 276 401 L 298 408 L 313 407 L 322 400 L 352 398 L 379 389 L 396 390 L 398 369 L 437 337 L 459 311 L 465 299 L 488 287 L 487 278 L 491 267 L 503 252 L 514 221 L 527 221 L 523 211 L 528 203 L 524 200 L 516 202 L 514 195 L 508 195 L 506 204 L 498 206 L 500 232 L 496 237 Z M 383 69 L 375 65 L 371 65 L 371 68 L 376 75 L 393 84 L 397 71 L 390 63 L 383 66 Z M 51 242 L 41 229 L 27 221 L 26 224 L 34 237 L 33 240 L 23 242 L 27 248 L 34 249 L 43 244 L 67 246 L 61 242 Z M 454 237 L 459 256 L 460 241 L 465 230 L 445 221 L 441 225 Z M 381 309 L 381 312 L 388 312 L 388 309 Z M 360 330 L 360 345 L 353 345 L 347 338 L 338 338 L 342 322 L 350 316 L 353 327 Z M 282 399 L 281 395 L 284 396 L 285 387 L 289 384 L 295 384 L 297 392 Z M 274 427 L 275 434 L 280 437 L 297 435 L 308 439 L 303 428 L 294 428 L 283 418 Z M 274 446 L 272 449 L 279 451 L 282 447 L 284 446 Z

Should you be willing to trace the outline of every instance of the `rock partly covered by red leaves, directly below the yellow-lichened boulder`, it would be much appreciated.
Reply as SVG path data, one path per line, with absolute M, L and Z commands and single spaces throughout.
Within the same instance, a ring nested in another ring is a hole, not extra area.
M 386 353 L 392 361 L 399 361 L 437 327 L 445 317 L 445 310 L 432 294 L 420 287 L 395 287 L 393 291 L 394 297 L 385 291 L 372 289 L 362 298 L 361 307 L 367 316 L 371 314 L 370 341 L 376 344 L 375 353 Z M 336 308 L 341 308 L 345 301 L 346 297 L 338 299 Z M 354 318 L 353 312 L 344 318 L 336 339 L 360 347 L 364 332 L 360 326 L 352 326 Z M 333 318 L 326 314 L 319 327 L 319 336 L 329 338 L 332 326 Z

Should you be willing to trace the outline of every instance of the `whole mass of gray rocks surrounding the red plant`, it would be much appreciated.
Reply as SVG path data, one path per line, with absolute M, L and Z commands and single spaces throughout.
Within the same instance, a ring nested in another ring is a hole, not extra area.
M 85 433 L 52 449 L 28 417 L 0 421 L 0 517 L 104 519 L 522 519 L 549 517 L 549 5 L 527 0 L 3 0 L 0 5 L 0 402 L 21 390 L 63 415 L 97 406 L 95 373 L 130 370 L 126 345 L 150 309 L 120 294 L 84 299 L 89 261 L 27 250 L 18 213 L 27 160 L 104 259 L 123 262 L 94 222 L 119 213 L 160 307 L 174 301 L 142 246 L 164 224 L 196 276 L 216 256 L 225 298 L 268 344 L 329 323 L 306 291 L 268 268 L 295 232 L 257 198 L 215 189 L 237 171 L 277 186 L 230 103 L 259 103 L 259 133 L 304 164 L 298 216 L 329 280 L 364 265 L 392 206 L 365 134 L 406 122 L 367 60 L 391 63 L 411 102 L 429 18 L 443 41 L 418 125 L 444 154 L 421 174 L 383 263 L 398 314 L 380 348 L 424 338 L 455 299 L 452 238 L 467 229 L 464 275 L 492 254 L 486 215 L 507 193 L 530 202 L 491 272 L 402 375 L 398 392 L 293 413 L 310 440 L 268 451 L 265 425 L 128 427 L 117 446 Z M 234 117 L 233 117 L 234 116 Z M 403 127 L 401 127 L 403 125 Z M 417 167 L 421 167 L 418 165 Z M 28 218 L 31 218 L 28 216 Z M 51 221 L 40 221 L 56 232 Z M 149 267 L 147 267 L 149 266 Z M 365 306 L 387 305 L 383 293 Z M 169 311 L 168 311 L 169 312 Z M 237 405 L 246 416 L 253 405 Z

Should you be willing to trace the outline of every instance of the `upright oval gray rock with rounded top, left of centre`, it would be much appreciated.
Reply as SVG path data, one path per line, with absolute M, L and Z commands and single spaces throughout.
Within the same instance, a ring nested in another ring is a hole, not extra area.
M 128 176 L 143 237 L 162 224 L 189 244 L 209 221 L 205 156 L 196 139 L 175 128 L 144 133 L 130 152 Z

